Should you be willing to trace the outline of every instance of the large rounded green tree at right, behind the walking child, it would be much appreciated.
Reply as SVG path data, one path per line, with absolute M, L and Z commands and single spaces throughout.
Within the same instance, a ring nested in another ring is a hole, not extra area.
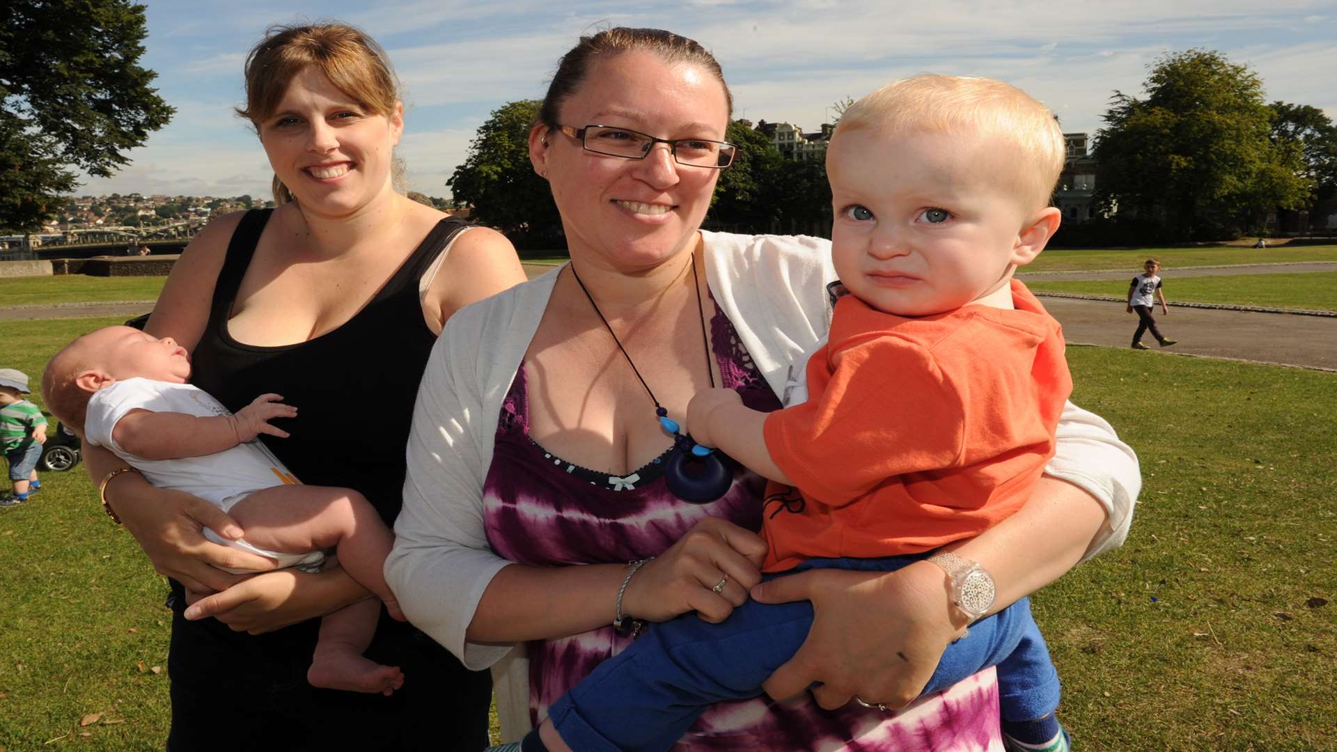
M 1115 91 L 1096 131 L 1096 201 L 1161 221 L 1178 240 L 1254 230 L 1309 194 L 1300 150 L 1274 142 L 1273 110 L 1247 66 L 1189 50 L 1157 60 L 1146 98 Z

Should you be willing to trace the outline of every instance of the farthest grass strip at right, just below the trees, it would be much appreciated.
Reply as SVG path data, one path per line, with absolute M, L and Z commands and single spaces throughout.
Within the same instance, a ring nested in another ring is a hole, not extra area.
M 1119 250 L 1082 250 L 1051 248 L 1025 265 L 1023 272 L 1084 272 L 1127 269 L 1130 276 L 1142 272 L 1147 258 L 1161 261 L 1167 272 L 1186 266 L 1237 264 L 1289 264 L 1294 261 L 1337 261 L 1337 245 L 1297 245 L 1269 249 L 1251 248 L 1138 248 Z

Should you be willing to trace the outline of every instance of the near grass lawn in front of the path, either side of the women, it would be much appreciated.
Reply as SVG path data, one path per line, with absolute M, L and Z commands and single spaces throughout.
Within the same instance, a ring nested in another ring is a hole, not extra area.
M 0 321 L 5 365 L 36 375 L 116 321 Z M 1068 360 L 1074 400 L 1146 476 L 1127 543 L 1034 598 L 1078 744 L 1332 748 L 1337 375 L 1088 347 Z M 44 483 L 0 511 L 0 748 L 156 749 L 164 581 L 80 470 Z

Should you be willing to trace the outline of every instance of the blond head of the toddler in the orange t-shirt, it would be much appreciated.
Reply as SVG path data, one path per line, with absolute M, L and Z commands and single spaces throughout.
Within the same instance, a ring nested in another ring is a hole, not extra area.
M 920 75 L 869 94 L 826 151 L 841 282 L 901 316 L 1005 288 L 1059 227 L 1063 159 L 1054 114 L 1009 84 Z

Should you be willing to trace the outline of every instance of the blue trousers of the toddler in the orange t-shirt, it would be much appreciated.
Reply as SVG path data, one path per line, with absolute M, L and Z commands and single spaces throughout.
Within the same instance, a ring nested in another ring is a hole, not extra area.
M 925 555 L 810 559 L 793 573 L 892 571 Z M 747 601 L 723 624 L 685 614 L 651 625 L 554 702 L 548 717 L 563 741 L 582 752 L 667 751 L 709 705 L 759 696 L 762 681 L 798 652 L 812 625 L 809 601 Z M 992 665 L 999 666 L 1004 720 L 1039 719 L 1058 708 L 1059 674 L 1025 598 L 972 624 L 967 637 L 948 645 L 924 693 Z

